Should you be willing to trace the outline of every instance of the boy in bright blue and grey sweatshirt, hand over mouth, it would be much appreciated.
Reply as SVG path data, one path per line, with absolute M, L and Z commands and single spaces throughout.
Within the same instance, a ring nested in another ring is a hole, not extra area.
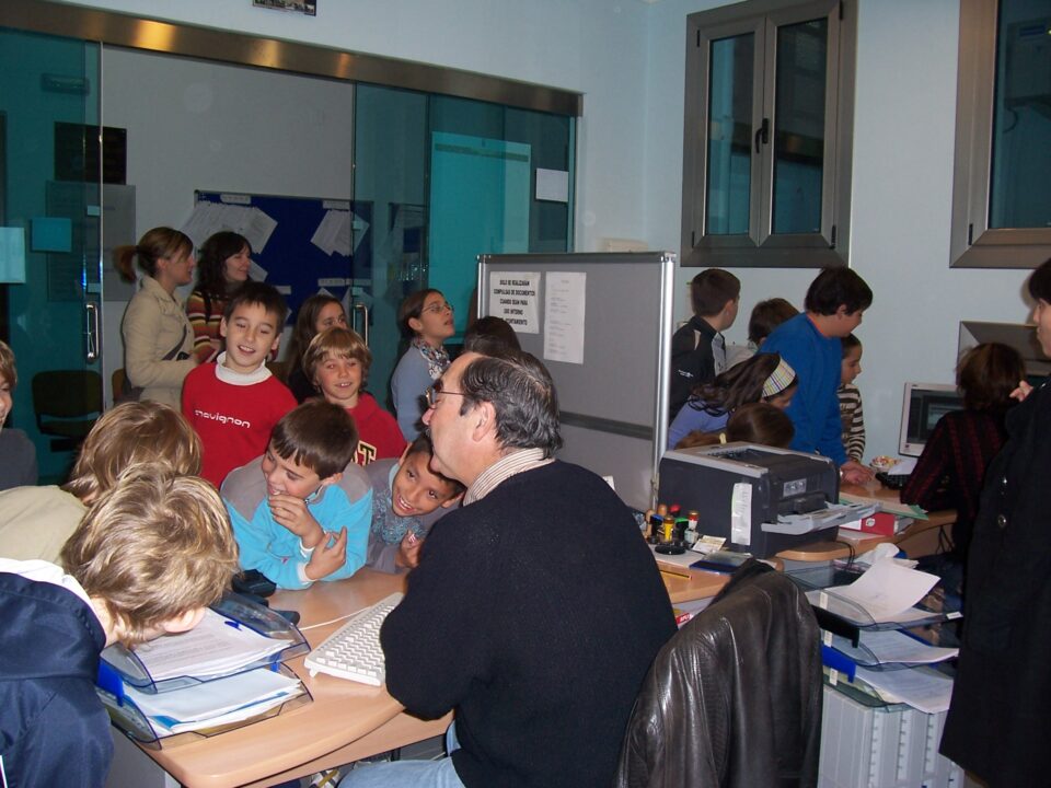
M 222 484 L 242 568 L 282 589 L 361 568 L 372 489 L 354 463 L 357 448 L 354 419 L 338 405 L 310 401 L 278 421 L 266 453 Z

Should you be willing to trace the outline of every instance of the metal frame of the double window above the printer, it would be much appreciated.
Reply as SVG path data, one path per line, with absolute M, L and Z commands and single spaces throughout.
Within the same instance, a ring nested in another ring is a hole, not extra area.
M 812 19 L 828 23 L 821 231 L 773 234 L 773 140 L 752 149 L 749 232 L 706 234 L 711 44 L 752 33 L 752 138 L 763 118 L 776 129 L 777 28 Z M 749 0 L 686 18 L 681 265 L 813 268 L 846 265 L 857 40 L 856 0 Z M 769 89 L 764 90 L 764 84 Z

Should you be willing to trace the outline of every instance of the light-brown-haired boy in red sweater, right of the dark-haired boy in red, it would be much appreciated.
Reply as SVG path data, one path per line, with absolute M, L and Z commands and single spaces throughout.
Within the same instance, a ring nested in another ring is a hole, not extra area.
M 405 449 L 397 421 L 368 392 L 372 354 L 365 340 L 348 328 L 322 332 L 303 354 L 303 371 L 326 402 L 346 408 L 358 427 L 358 452 L 354 461 L 368 465 L 374 460 L 400 457 Z

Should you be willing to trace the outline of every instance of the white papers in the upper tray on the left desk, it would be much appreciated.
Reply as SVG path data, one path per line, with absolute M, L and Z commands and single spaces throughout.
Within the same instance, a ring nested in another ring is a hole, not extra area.
M 284 640 L 259 635 L 209 609 L 189 631 L 142 644 L 135 653 L 153 681 L 162 682 L 183 675 L 224 675 L 287 646 Z

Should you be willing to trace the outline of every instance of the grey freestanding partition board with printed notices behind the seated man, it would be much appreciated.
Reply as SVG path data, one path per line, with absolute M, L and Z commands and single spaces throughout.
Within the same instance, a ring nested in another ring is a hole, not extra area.
M 674 267 L 670 252 L 478 257 L 480 314 L 515 325 L 554 379 L 558 457 L 640 510 L 668 434 Z

